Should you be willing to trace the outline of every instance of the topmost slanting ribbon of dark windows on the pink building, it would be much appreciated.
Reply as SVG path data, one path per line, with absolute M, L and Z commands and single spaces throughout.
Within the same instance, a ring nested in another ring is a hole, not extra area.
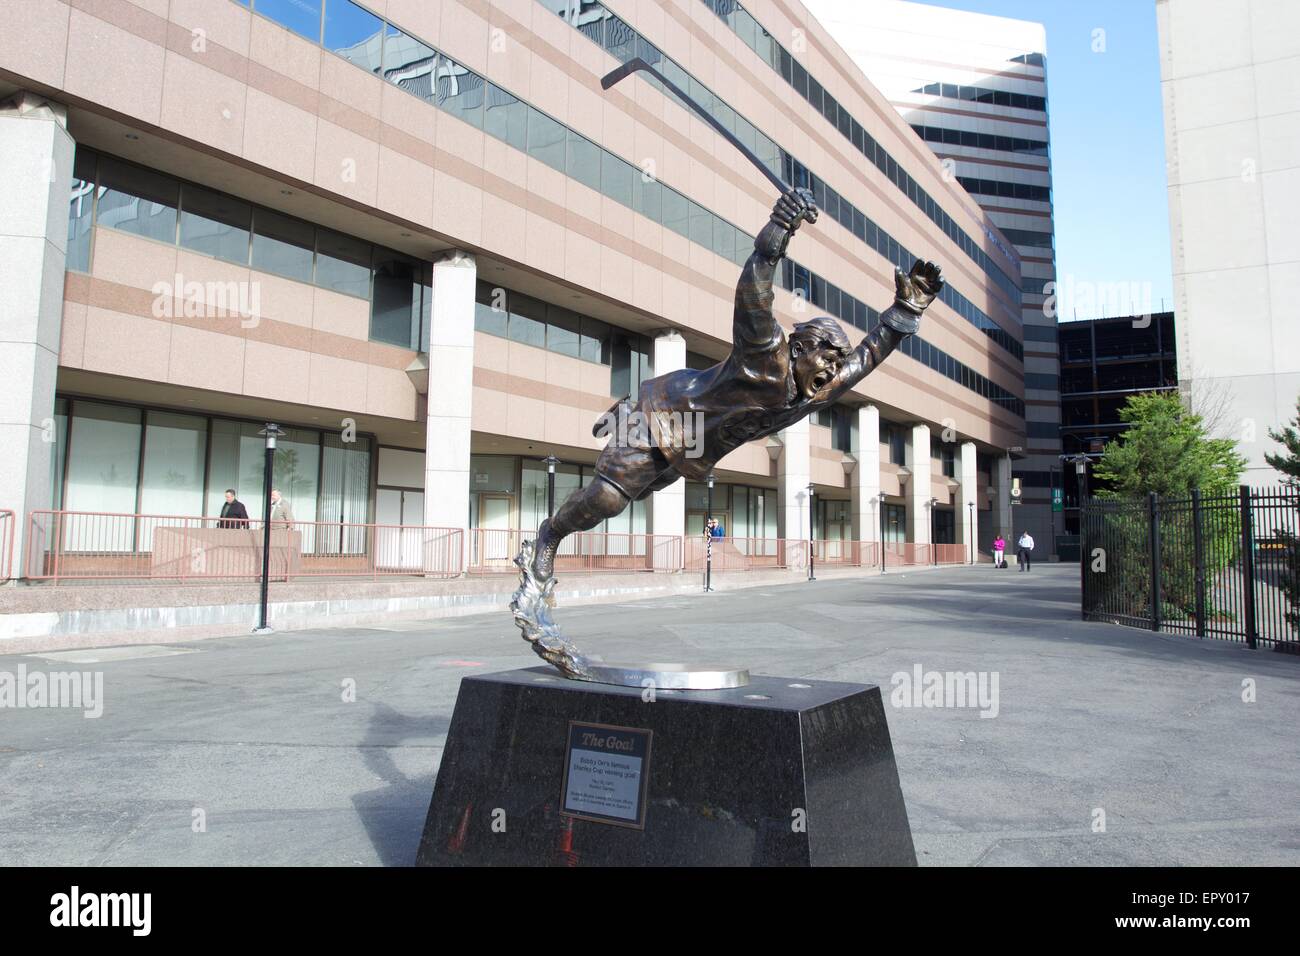
M 992 276 L 993 281 L 1001 286 L 1011 302 L 1019 302 L 1019 290 L 1015 282 L 1002 272 L 997 263 L 976 245 L 975 239 L 957 225 L 952 216 L 944 212 L 939 203 L 894 161 L 893 156 L 872 139 L 871 134 L 862 127 L 862 124 L 850 116 L 835 96 L 826 92 L 826 88 L 802 64 L 794 60 L 789 51 L 777 43 L 745 8 L 736 3 L 736 0 L 702 0 L 702 3 L 716 13 L 759 59 L 780 73 L 785 82 L 793 86 L 796 92 L 822 113 L 832 126 L 840 130 L 840 135 L 853 143 L 854 148 L 866 156 L 868 161 L 874 163 L 935 225 L 944 230 L 948 238 L 956 242 L 967 256 Z M 1013 261 L 1017 260 L 1015 252 L 1002 246 L 992 232 L 985 230 L 985 234 L 1009 259 Z

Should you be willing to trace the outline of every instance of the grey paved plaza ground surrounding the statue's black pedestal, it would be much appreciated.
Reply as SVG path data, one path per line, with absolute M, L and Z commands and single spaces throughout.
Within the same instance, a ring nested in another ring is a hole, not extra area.
M 1300 864 L 1300 659 L 1083 623 L 1076 567 L 558 618 L 608 659 L 879 683 L 922 865 Z M 0 710 L 0 862 L 411 864 L 460 678 L 536 663 L 503 614 L 0 657 L 103 674 L 99 718 Z M 985 697 L 890 704 L 918 667 Z

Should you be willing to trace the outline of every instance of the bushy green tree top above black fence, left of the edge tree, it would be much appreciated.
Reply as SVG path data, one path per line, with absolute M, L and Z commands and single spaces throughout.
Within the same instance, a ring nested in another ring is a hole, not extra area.
M 1096 476 L 1109 486 L 1098 497 L 1135 498 L 1154 492 L 1183 496 L 1227 494 L 1242 480 L 1245 458 L 1231 438 L 1212 438 L 1200 415 L 1183 407 L 1176 394 L 1130 395 L 1119 410 L 1128 428 L 1106 442 Z

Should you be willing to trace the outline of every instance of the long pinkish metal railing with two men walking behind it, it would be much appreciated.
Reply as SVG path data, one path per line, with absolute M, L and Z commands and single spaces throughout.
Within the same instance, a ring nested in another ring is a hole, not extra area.
M 32 580 L 247 581 L 261 578 L 264 525 L 188 515 L 32 511 Z M 269 580 L 454 578 L 463 532 L 347 522 L 272 522 Z

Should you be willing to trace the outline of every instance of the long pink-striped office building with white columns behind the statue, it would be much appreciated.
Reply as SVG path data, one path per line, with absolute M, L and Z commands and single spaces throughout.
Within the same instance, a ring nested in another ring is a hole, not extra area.
M 304 548 L 365 546 L 330 524 L 534 529 L 547 455 L 563 498 L 612 402 L 725 356 L 775 200 L 653 79 L 602 91 L 630 56 L 816 194 L 786 329 L 831 315 L 857 341 L 896 267 L 948 280 L 852 401 L 719 464 L 728 533 L 807 537 L 810 484 L 819 537 L 967 542 L 989 514 L 1024 432 L 1019 261 L 801 8 L 17 5 L 0 507 L 21 537 L 51 511 L 217 515 L 226 489 L 260 514 L 266 421 Z M 677 483 L 598 531 L 694 532 L 705 498 Z M 114 535 L 100 549 L 146 546 Z M 471 566 L 503 541 L 467 535 Z

